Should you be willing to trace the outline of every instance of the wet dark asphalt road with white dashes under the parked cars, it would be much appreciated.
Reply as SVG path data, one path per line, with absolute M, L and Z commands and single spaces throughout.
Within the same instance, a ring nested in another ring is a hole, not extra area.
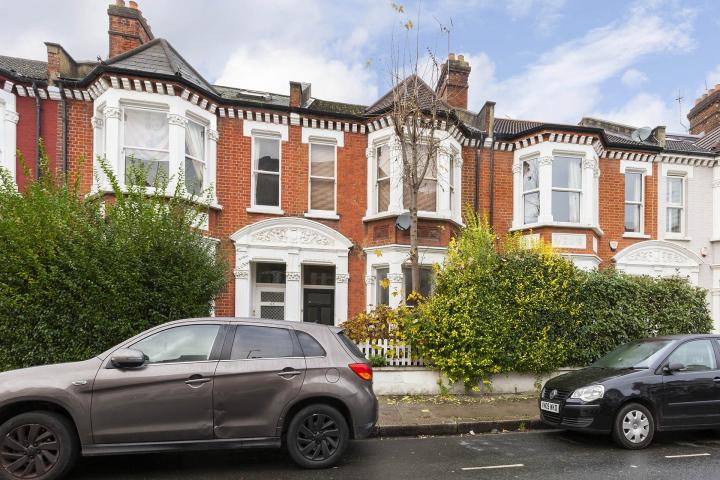
M 608 436 L 530 431 L 351 443 L 335 468 L 301 470 L 282 450 L 85 458 L 74 480 L 392 480 L 718 478 L 720 434 L 659 434 L 646 450 Z

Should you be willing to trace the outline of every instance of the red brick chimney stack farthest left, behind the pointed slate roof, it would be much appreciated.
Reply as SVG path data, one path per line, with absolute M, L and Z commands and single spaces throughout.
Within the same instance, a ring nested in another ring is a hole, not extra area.
M 115 0 L 115 4 L 108 7 L 110 19 L 108 56 L 110 58 L 137 48 L 155 38 L 145 17 L 142 16 L 142 12 L 138 10 L 137 2 L 130 0 L 129 3 L 128 7 L 125 6 L 125 0 Z

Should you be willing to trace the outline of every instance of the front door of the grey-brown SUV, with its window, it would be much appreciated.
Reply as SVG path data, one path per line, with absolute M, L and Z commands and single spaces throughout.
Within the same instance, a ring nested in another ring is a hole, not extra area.
M 148 357 L 144 366 L 101 368 L 91 408 L 95 443 L 212 439 L 218 364 L 212 352 L 221 328 L 195 324 L 161 330 L 130 346 Z

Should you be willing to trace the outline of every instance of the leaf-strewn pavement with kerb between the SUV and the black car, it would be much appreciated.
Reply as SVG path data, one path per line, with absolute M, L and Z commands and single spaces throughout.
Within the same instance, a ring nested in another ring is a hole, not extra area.
M 379 397 L 375 435 L 456 435 L 541 427 L 534 395 Z

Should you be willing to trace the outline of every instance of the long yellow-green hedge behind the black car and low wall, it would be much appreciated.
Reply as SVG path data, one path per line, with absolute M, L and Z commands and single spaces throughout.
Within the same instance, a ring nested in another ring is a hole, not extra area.
M 628 340 L 712 329 L 706 292 L 687 281 L 582 272 L 548 245 L 499 241 L 467 215 L 436 269 L 435 294 L 402 323 L 414 351 L 451 380 L 587 365 Z

